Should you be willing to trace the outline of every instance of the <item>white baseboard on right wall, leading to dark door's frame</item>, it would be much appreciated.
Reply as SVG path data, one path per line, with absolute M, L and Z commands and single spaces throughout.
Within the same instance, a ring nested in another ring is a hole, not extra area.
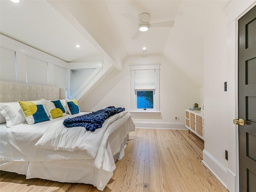
M 205 166 L 216 176 L 218 180 L 227 187 L 228 175 L 227 168 L 223 166 L 218 160 L 216 160 L 210 153 L 203 150 L 203 160 Z

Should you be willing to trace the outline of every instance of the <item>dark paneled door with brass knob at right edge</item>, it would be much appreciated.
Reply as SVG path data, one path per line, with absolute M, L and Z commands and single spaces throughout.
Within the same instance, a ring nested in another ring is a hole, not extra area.
M 238 20 L 240 192 L 256 192 L 256 6 Z

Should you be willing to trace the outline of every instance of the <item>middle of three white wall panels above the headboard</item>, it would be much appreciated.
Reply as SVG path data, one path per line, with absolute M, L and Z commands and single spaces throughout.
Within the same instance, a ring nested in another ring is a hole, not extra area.
M 47 62 L 27 56 L 28 84 L 48 85 Z

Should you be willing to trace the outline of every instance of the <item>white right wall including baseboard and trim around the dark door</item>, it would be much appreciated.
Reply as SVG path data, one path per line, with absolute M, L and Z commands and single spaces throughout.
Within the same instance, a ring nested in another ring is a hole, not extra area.
M 232 122 L 238 118 L 237 20 L 252 4 L 232 1 L 225 10 L 212 4 L 204 34 L 203 162 L 232 192 L 239 191 L 238 127 Z

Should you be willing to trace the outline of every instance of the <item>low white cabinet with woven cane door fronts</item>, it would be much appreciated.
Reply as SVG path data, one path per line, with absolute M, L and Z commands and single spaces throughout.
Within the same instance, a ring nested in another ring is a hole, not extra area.
M 204 112 L 185 110 L 186 128 L 204 140 Z

